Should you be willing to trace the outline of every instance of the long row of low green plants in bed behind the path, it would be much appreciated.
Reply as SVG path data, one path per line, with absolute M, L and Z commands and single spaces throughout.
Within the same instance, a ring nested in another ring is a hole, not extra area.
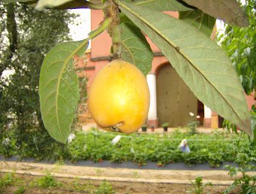
M 115 133 L 102 133 L 97 131 L 84 133 L 77 132 L 76 137 L 67 145 L 57 146 L 49 144 L 49 153 L 45 153 L 44 147 L 38 147 L 38 150 L 31 150 L 28 153 L 19 152 L 10 143 L 9 155 L 19 155 L 22 157 L 33 157 L 34 154 L 38 160 L 71 160 L 72 162 L 80 160 L 92 160 L 101 162 L 109 160 L 115 163 L 123 161 L 133 161 L 138 165 L 146 165 L 147 162 L 156 162 L 159 167 L 168 163 L 184 162 L 189 165 L 195 163 L 209 163 L 211 167 L 218 167 L 225 161 L 234 162 L 239 153 L 246 153 L 250 156 L 252 162 L 255 162 L 256 152 L 251 149 L 251 142 L 248 138 L 230 134 L 227 137 L 223 134 L 195 134 L 180 133 L 176 131 L 172 135 L 127 135 L 115 145 L 111 140 Z M 182 153 L 179 149 L 179 143 L 182 139 L 188 139 L 191 153 Z M 11 140 L 12 142 L 12 140 Z M 218 144 L 216 144 L 218 142 Z M 33 147 L 33 146 L 31 146 Z M 42 149 L 42 150 L 41 150 Z M 43 154 L 40 154 L 40 153 Z M 0 148 L 0 154 L 6 153 L 3 147 Z

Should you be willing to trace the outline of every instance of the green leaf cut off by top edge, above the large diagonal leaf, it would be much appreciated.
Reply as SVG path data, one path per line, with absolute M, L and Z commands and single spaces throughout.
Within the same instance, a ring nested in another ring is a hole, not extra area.
M 130 1 L 130 0 L 128 0 Z M 177 0 L 135 0 L 134 4 L 144 6 L 155 11 L 188 11 L 193 10 L 188 4 Z

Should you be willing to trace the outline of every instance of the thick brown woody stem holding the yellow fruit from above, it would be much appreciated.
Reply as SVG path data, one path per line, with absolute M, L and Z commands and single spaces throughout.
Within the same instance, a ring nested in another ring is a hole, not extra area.
M 121 45 L 121 27 L 119 18 L 119 9 L 117 4 L 113 0 L 106 0 L 104 3 L 104 17 L 111 17 L 112 23 L 108 27 L 109 36 L 112 38 L 112 50 L 111 61 L 122 58 L 122 45 Z

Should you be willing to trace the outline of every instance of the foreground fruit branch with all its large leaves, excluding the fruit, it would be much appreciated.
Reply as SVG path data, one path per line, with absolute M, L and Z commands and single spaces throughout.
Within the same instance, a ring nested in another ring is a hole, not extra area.
M 6 0 L 6 2 L 13 2 L 13 0 Z M 19 2 L 19 0 L 14 2 Z M 44 8 L 65 10 L 83 7 L 104 12 L 104 20 L 100 22 L 97 29 L 88 34 L 88 38 L 83 41 L 60 43 L 45 56 L 40 71 L 40 108 L 45 128 L 51 137 L 64 144 L 67 142 L 79 101 L 79 82 L 74 72 L 72 59 L 76 54 L 83 55 L 88 42 L 105 30 L 112 39 L 110 58 L 124 59 L 138 66 L 144 75 L 150 71 L 154 57 L 143 33 L 147 34 L 200 101 L 252 135 L 250 113 L 236 70 L 232 67 L 225 52 L 209 38 L 217 17 L 240 27 L 248 26 L 248 19 L 236 1 L 224 4 L 221 9 L 218 1 L 202 2 L 164 0 L 141 3 L 106 0 L 77 3 L 71 0 L 27 0 L 25 4 L 33 5 L 37 10 Z M 166 15 L 163 11 L 179 11 L 179 20 Z M 19 22 L 19 24 L 23 23 L 23 21 Z M 33 25 L 29 22 L 29 26 L 36 28 L 41 25 Z M 60 27 L 51 29 L 63 31 Z M 56 36 L 61 37 L 61 33 L 57 33 Z M 38 40 L 40 38 L 33 42 Z M 56 42 L 52 41 L 52 43 Z M 14 48 L 16 48 L 15 44 Z M 13 53 L 15 49 L 11 51 Z M 39 62 L 42 61 L 38 60 Z M 54 66 L 56 69 L 52 70 L 52 64 L 56 63 L 58 66 Z M 22 77 L 22 74 L 19 76 Z M 225 84 L 223 84 L 224 78 Z M 22 91 L 21 96 L 26 96 L 26 90 L 24 93 Z M 34 116 L 34 114 L 26 115 Z M 41 117 L 39 114 L 36 116 Z M 26 133 L 21 130 L 20 134 Z

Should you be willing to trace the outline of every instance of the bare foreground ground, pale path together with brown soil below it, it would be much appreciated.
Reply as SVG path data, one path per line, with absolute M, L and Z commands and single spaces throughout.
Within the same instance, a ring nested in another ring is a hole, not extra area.
M 94 193 L 104 180 L 112 184 L 116 194 L 186 194 L 189 190 L 193 190 L 191 181 L 198 176 L 203 178 L 204 183 L 214 184 L 205 191 L 218 194 L 223 193 L 234 180 L 234 178 L 230 179 L 227 171 L 224 170 L 141 170 L 0 161 L 0 175 L 6 173 L 14 173 L 23 181 L 26 194 Z M 29 183 L 47 173 L 51 173 L 52 177 L 58 179 L 64 187 L 53 189 L 29 187 Z M 249 174 L 254 175 L 256 172 Z M 77 185 L 79 190 L 76 189 Z M 15 193 L 19 187 L 20 184 L 15 184 L 4 192 Z

